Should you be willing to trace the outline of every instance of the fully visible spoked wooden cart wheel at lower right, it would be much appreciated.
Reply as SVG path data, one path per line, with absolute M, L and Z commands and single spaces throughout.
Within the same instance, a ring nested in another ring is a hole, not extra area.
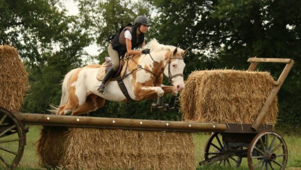
M 286 162 L 287 147 L 280 134 L 262 131 L 251 141 L 248 150 L 250 169 L 284 169 Z

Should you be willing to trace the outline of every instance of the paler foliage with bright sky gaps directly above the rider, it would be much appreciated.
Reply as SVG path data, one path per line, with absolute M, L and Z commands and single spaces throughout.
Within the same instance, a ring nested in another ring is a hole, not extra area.
M 104 60 L 108 55 L 108 39 L 119 28 L 132 23 L 138 15 L 150 16 L 150 5 L 144 0 L 79 0 L 80 16 L 89 25 L 95 34 L 96 43 L 100 46 L 101 53 L 98 59 Z

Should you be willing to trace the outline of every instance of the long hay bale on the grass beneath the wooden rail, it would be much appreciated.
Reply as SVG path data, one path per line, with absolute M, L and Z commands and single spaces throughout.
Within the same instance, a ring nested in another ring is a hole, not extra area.
M 196 163 L 187 132 L 44 127 L 37 151 L 43 166 L 67 169 L 195 169 Z

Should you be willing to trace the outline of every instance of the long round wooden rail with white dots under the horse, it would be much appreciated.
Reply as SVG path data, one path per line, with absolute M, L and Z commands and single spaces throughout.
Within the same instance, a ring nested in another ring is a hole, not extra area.
M 156 131 L 225 131 L 224 123 L 203 123 L 186 121 L 164 121 L 128 118 L 105 118 L 86 116 L 67 116 L 39 113 L 14 112 L 14 115 L 24 124 L 72 126 L 72 127 L 96 127 L 119 128 Z

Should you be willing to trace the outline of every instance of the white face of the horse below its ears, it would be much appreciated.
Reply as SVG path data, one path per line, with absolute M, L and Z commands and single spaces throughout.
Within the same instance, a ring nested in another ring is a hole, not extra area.
M 172 59 L 171 64 L 167 65 L 165 67 L 164 73 L 167 76 L 169 76 L 169 73 L 168 73 L 169 66 L 170 66 L 170 70 L 171 70 L 171 76 L 179 74 L 179 73 L 183 73 L 185 65 L 186 64 L 184 63 L 183 59 L 174 58 L 174 59 Z M 178 76 L 172 78 L 172 83 L 174 85 L 175 90 L 178 92 L 182 91 L 185 87 L 184 77 L 181 75 L 178 75 Z

